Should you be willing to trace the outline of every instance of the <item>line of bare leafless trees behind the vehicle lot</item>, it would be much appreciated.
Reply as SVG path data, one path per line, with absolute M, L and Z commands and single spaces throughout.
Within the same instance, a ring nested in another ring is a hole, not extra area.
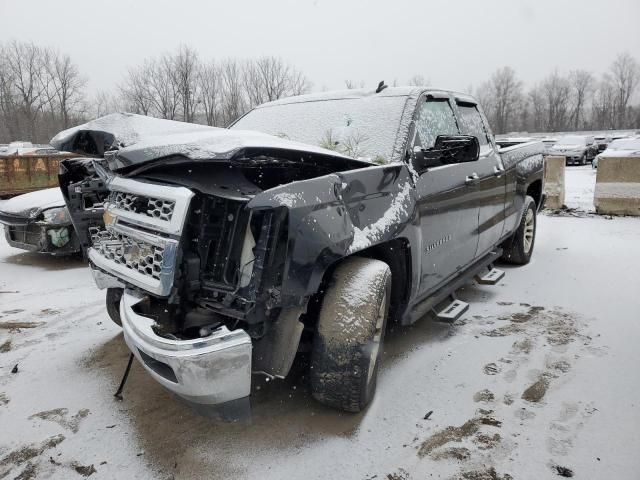
M 511 67 L 503 67 L 468 90 L 495 133 L 604 130 L 640 126 L 640 105 L 632 104 L 639 80 L 637 60 L 622 53 L 600 76 L 555 70 L 525 88 Z M 416 74 L 407 83 L 429 81 Z M 365 86 L 345 80 L 346 88 Z M 68 55 L 10 41 L 0 43 L 0 143 L 46 143 L 60 130 L 116 111 L 223 127 L 255 105 L 311 87 L 304 73 L 279 57 L 202 59 L 180 46 L 129 68 L 112 91 L 90 93 L 87 77 Z

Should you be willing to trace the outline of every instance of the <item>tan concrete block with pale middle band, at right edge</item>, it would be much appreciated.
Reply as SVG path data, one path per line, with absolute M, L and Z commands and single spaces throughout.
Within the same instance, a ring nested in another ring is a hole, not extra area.
M 640 156 L 598 160 L 596 212 L 640 216 Z

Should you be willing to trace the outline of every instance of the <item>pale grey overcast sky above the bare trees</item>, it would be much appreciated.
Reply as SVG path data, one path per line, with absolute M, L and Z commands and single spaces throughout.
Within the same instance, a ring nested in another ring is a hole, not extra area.
M 0 19 L 0 41 L 58 48 L 105 90 L 181 43 L 204 59 L 280 56 L 314 90 L 414 74 L 461 90 L 504 65 L 531 84 L 640 60 L 640 0 L 0 0 Z

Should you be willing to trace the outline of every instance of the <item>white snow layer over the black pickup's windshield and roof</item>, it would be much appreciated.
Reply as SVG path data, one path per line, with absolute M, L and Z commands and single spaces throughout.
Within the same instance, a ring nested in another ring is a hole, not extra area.
M 424 92 L 476 103 L 469 95 L 428 87 L 387 87 L 379 93 L 341 90 L 258 105 L 231 128 L 321 145 L 370 162 L 396 162 L 402 159 L 413 112 Z

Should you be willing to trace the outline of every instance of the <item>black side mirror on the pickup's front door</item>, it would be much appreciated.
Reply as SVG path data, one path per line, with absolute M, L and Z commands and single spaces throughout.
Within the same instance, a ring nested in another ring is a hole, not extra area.
M 433 148 L 415 147 L 413 162 L 418 172 L 453 163 L 475 162 L 480 158 L 480 143 L 472 135 L 438 135 Z

